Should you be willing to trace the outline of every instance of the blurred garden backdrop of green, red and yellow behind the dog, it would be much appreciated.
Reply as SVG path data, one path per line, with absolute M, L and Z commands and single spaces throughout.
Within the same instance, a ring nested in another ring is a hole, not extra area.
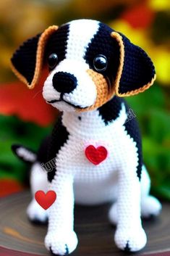
M 27 90 L 12 74 L 9 59 L 22 41 L 48 25 L 84 17 L 124 33 L 156 65 L 154 86 L 127 101 L 140 122 L 153 194 L 170 200 L 170 1 L 6 0 L 0 1 L 0 13 L 0 195 L 23 189 L 27 178 L 11 144 L 37 149 L 56 116 L 43 102 L 42 83 Z

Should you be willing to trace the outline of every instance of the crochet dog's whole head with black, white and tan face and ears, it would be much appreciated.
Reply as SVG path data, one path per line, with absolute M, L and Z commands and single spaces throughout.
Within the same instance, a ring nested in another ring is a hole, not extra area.
M 14 73 L 33 88 L 43 65 L 46 102 L 59 110 L 101 107 L 115 94 L 130 96 L 149 88 L 156 78 L 148 55 L 121 33 L 95 20 L 51 26 L 14 53 Z

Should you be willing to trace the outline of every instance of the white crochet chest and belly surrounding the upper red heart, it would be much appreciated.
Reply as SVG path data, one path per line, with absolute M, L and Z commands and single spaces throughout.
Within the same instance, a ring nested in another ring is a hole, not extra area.
M 57 154 L 56 170 L 74 175 L 77 202 L 94 204 L 116 198 L 117 171 L 129 152 L 135 150 L 134 141 L 124 130 L 126 119 L 124 104 L 119 117 L 109 125 L 105 125 L 97 110 L 81 114 L 64 113 L 62 123 L 69 132 L 69 139 Z M 90 162 L 85 156 L 89 145 L 95 148 L 104 146 L 108 152 L 106 160 L 99 165 Z

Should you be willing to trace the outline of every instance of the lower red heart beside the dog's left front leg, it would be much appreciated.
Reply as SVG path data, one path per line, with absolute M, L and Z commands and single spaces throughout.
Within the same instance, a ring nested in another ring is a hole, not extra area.
M 47 193 L 44 193 L 44 191 L 38 190 L 35 193 L 35 199 L 44 210 L 47 210 L 56 201 L 56 192 L 49 190 Z

